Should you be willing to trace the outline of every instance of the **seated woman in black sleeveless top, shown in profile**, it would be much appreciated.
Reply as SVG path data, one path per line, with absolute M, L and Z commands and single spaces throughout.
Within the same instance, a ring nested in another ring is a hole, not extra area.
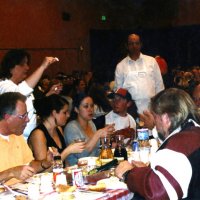
M 68 102 L 61 96 L 53 94 L 34 103 L 41 123 L 31 132 L 28 144 L 37 160 L 47 156 L 48 147 L 55 147 L 62 160 L 71 153 L 81 153 L 85 143 L 73 143 L 66 147 L 62 126 L 69 118 Z

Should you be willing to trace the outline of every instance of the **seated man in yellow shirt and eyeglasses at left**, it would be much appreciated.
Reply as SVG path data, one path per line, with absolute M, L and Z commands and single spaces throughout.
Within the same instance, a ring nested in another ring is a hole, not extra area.
M 51 153 L 42 161 L 34 160 L 22 135 L 29 121 L 25 101 L 18 92 L 0 95 L 0 182 L 25 180 L 51 166 Z

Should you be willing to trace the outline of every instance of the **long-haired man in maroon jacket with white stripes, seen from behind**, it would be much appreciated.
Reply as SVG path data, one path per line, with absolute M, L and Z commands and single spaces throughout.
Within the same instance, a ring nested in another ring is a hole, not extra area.
M 144 199 L 200 199 L 200 115 L 196 105 L 185 91 L 170 88 L 151 99 L 150 110 L 164 142 L 151 156 L 149 166 L 124 161 L 115 174 Z

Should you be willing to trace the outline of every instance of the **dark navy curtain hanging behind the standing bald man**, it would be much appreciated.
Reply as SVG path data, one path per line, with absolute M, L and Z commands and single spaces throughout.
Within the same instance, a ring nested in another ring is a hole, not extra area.
M 144 54 L 164 57 L 170 69 L 200 65 L 200 26 L 197 25 L 132 31 L 92 30 L 90 45 L 94 71 L 104 74 L 111 71 L 112 75 L 116 64 L 127 54 L 125 43 L 130 33 L 141 36 Z

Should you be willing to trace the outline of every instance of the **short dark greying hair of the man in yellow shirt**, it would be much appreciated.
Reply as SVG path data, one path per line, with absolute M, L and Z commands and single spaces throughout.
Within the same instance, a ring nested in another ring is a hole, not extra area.
M 0 95 L 0 120 L 5 114 L 14 114 L 18 101 L 25 102 L 26 97 L 19 92 L 6 92 Z

